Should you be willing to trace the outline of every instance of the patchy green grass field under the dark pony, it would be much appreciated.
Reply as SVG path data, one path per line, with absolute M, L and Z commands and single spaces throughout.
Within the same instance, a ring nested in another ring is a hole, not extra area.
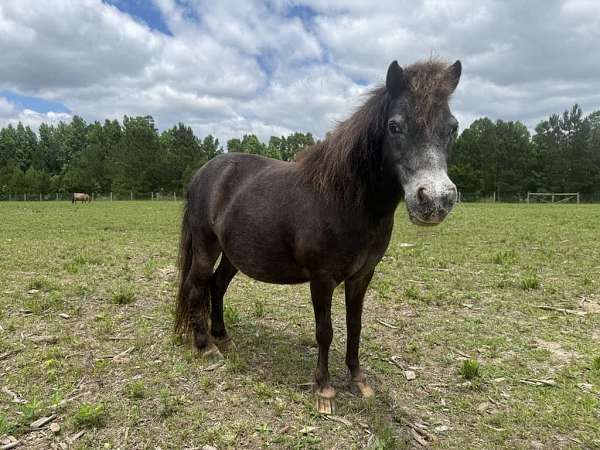
M 222 363 L 173 337 L 181 206 L 0 203 L 0 448 L 600 448 L 600 206 L 462 204 L 427 229 L 400 208 L 365 306 L 371 401 L 335 293 L 333 418 L 307 286 L 238 275 Z

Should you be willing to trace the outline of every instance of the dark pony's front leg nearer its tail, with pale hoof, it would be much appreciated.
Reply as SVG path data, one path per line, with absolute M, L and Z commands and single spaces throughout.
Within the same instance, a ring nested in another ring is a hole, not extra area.
M 315 406 L 322 414 L 333 414 L 335 411 L 335 390 L 329 384 L 329 346 L 333 339 L 331 296 L 335 286 L 335 280 L 329 276 L 316 277 L 310 281 L 310 293 L 315 311 L 315 335 L 319 345 L 315 370 Z

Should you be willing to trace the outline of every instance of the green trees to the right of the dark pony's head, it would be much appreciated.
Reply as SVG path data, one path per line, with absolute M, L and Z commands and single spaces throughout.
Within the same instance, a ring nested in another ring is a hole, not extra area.
M 553 114 L 533 135 L 519 122 L 475 120 L 456 139 L 449 174 L 463 192 L 600 192 L 600 111 Z

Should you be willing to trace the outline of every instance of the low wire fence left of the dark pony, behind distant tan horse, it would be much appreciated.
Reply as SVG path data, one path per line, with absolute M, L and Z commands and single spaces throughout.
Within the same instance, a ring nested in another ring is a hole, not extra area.
M 183 199 L 183 192 L 94 192 L 89 194 L 91 201 L 177 201 Z M 0 201 L 15 202 L 40 202 L 40 201 L 72 201 L 73 194 L 70 192 L 54 192 L 49 194 L 0 194 Z M 79 200 L 78 200 L 79 201 Z

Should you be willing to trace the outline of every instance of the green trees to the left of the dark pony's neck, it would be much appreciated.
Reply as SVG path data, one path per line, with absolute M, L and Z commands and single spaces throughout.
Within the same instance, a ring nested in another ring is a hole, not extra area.
M 228 151 L 290 160 L 307 145 L 310 133 L 253 134 L 227 142 Z M 150 116 L 87 124 L 42 123 L 38 133 L 18 123 L 0 129 L 0 195 L 53 192 L 167 192 L 184 190 L 194 172 L 224 152 L 217 138 L 194 135 L 179 123 L 159 133 Z

